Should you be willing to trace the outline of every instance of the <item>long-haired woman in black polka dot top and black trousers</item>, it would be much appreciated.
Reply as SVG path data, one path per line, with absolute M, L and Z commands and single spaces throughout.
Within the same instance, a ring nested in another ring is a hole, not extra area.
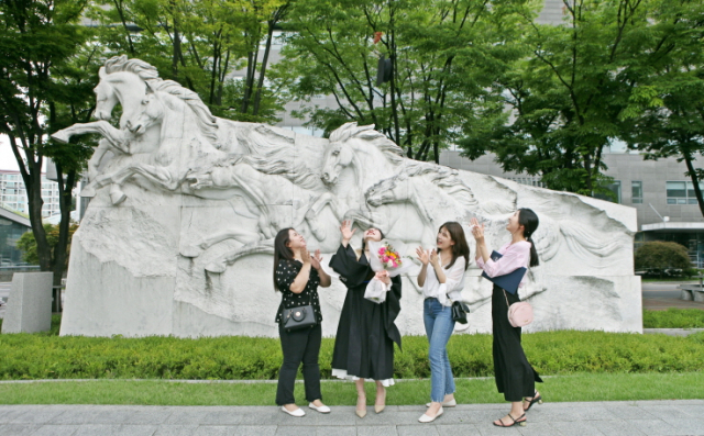
M 274 289 L 282 293 L 282 303 L 276 313 L 278 335 L 282 339 L 284 362 L 278 371 L 276 404 L 292 416 L 304 416 L 306 413 L 296 405 L 294 384 L 298 367 L 304 364 L 304 382 L 308 406 L 320 413 L 330 413 L 330 407 L 322 404 L 320 393 L 320 367 L 318 355 L 322 329 L 320 322 L 320 300 L 318 287 L 328 288 L 330 276 L 321 268 L 320 250 L 314 256 L 306 246 L 306 239 L 294 228 L 284 228 L 274 239 Z M 283 326 L 284 309 L 310 304 L 316 314 L 316 325 L 309 328 L 287 331 Z

